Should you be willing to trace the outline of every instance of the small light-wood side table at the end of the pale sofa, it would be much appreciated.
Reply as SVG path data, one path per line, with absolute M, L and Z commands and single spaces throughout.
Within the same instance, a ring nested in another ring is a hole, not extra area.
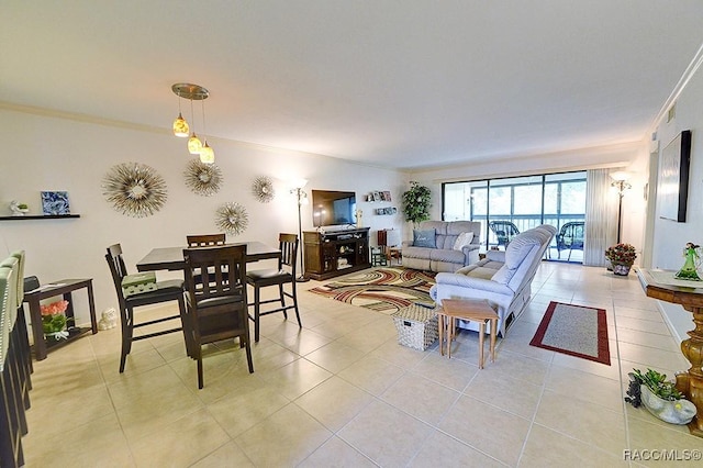
M 451 342 L 456 336 L 456 321 L 468 320 L 479 323 L 479 369 L 483 368 L 483 338 L 486 322 L 491 322 L 491 363 L 495 361 L 495 335 L 498 333 L 498 314 L 487 300 L 444 299 L 442 309 L 437 310 L 439 326 L 439 353 L 444 356 L 443 341 L 447 341 L 447 356 L 451 358 Z M 446 335 L 445 335 L 446 334 Z

